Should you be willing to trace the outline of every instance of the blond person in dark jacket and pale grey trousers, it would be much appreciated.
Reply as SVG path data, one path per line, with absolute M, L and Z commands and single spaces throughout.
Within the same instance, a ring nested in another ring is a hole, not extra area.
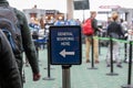
M 121 36 L 124 36 L 123 29 L 121 24 L 119 23 L 119 14 L 117 12 L 112 13 L 112 22 L 108 26 L 108 35 L 113 37 L 113 38 L 121 38 Z M 110 67 L 110 59 L 111 59 L 111 54 L 110 54 L 110 48 L 111 46 L 109 45 L 109 51 L 106 55 L 106 64 L 108 67 Z M 116 62 L 117 67 L 122 67 L 122 59 L 120 58 L 120 45 L 119 42 L 113 41 L 113 61 Z

